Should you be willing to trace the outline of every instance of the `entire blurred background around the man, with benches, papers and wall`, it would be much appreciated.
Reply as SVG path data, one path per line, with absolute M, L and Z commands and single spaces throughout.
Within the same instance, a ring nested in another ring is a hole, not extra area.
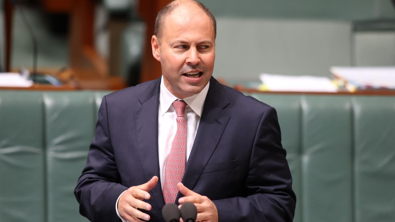
M 73 190 L 102 98 L 160 77 L 169 2 L 0 0 L 0 222 L 87 221 Z M 395 0 L 201 2 L 213 76 L 277 111 L 293 221 L 394 222 Z

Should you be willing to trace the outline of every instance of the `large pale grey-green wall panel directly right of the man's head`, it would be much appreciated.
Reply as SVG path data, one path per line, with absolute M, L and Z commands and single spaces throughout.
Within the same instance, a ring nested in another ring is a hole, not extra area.
M 350 66 L 351 23 L 217 18 L 214 77 L 259 81 L 260 73 L 330 76 Z

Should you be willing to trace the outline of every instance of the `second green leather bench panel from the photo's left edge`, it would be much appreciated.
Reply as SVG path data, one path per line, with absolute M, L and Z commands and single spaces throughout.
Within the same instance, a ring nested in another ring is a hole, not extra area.
M 87 162 L 87 144 L 94 136 L 92 92 L 45 92 L 46 190 L 48 221 L 79 217 L 70 190 Z

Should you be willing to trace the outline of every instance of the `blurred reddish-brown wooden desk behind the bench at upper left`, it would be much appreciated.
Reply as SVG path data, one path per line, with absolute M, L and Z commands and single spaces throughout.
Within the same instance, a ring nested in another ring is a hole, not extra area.
M 4 0 L 5 11 L 5 71 L 11 71 L 11 33 L 12 17 L 14 12 L 11 0 Z M 118 90 L 126 87 L 125 81 L 120 76 L 110 75 L 108 63 L 94 48 L 94 7 L 93 0 L 41 0 L 43 8 L 51 13 L 68 13 L 70 15 L 69 51 L 70 70 L 75 78 L 70 86 L 54 87 L 37 85 L 29 89 L 103 89 Z M 43 69 L 42 67 L 40 68 Z M 38 70 L 40 73 L 40 70 Z M 18 88 L 22 89 L 22 88 Z

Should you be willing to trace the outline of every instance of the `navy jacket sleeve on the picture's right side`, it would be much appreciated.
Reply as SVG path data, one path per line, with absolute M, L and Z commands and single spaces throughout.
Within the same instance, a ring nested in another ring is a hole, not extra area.
M 243 197 L 214 200 L 220 222 L 291 222 L 296 196 L 280 126 L 273 107 L 263 113 L 256 136 Z

